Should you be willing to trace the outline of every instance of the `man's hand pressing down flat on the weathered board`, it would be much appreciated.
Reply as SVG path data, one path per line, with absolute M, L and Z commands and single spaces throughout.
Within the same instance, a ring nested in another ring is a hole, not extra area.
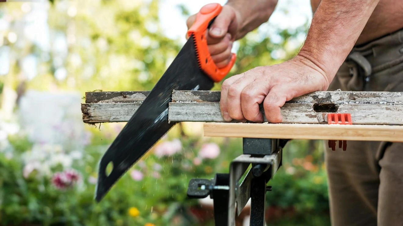
M 280 123 L 280 107 L 286 101 L 326 90 L 329 84 L 324 71 L 297 55 L 282 64 L 253 68 L 226 79 L 221 86 L 221 114 L 225 121 L 263 122 L 259 111 L 259 104 L 263 103 L 266 119 Z

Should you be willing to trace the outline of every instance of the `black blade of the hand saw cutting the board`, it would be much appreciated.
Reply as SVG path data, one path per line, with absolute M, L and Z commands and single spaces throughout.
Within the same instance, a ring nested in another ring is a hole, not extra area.
M 213 81 L 199 69 L 193 37 L 127 122 L 99 164 L 97 201 L 112 185 L 174 125 L 168 123 L 168 103 L 173 90 L 210 90 Z M 108 175 L 106 167 L 112 163 Z

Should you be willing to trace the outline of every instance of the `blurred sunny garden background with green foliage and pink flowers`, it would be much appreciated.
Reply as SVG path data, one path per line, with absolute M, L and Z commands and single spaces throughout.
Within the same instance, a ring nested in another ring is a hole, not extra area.
M 179 123 L 95 203 L 98 161 L 124 123 L 87 125 L 80 109 L 85 92 L 151 90 L 186 41 L 187 16 L 208 3 L 0 3 L 0 225 L 213 225 L 211 199 L 187 199 L 187 185 L 227 173 L 241 139 Z M 308 0 L 280 0 L 234 45 L 229 76 L 293 57 L 311 14 Z M 269 225 L 330 224 L 320 142 L 289 142 L 270 185 Z

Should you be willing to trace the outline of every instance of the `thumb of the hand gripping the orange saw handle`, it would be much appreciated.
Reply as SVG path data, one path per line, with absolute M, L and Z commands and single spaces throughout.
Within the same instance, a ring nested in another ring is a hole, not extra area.
M 222 7 L 221 13 L 211 25 L 209 35 L 212 38 L 223 38 L 229 30 L 231 23 L 236 23 L 235 11 L 232 7 Z M 231 34 L 233 37 L 235 34 Z

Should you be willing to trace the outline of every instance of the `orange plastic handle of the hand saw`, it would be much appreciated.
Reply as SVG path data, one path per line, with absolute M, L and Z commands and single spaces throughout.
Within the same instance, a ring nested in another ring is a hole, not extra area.
M 221 9 L 222 6 L 218 3 L 211 3 L 203 6 L 196 14 L 195 23 L 193 23 L 187 31 L 189 37 L 193 36 L 199 68 L 214 82 L 221 81 L 228 74 L 232 66 L 235 64 L 236 59 L 235 53 L 232 53 L 229 64 L 224 68 L 218 68 L 216 64 L 214 64 L 208 51 L 205 33 L 210 25 L 210 21 L 220 14 Z

